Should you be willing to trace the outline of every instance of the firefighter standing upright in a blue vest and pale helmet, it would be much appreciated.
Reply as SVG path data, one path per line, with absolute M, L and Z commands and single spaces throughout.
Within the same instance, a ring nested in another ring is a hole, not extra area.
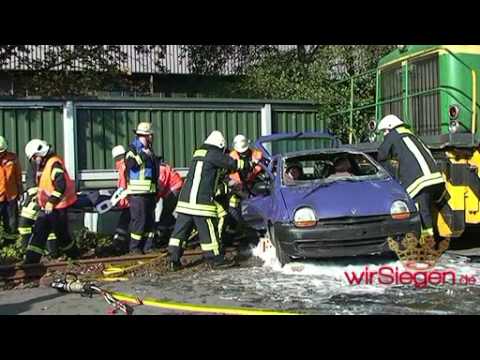
M 125 156 L 132 254 L 151 252 L 155 236 L 158 169 L 151 126 L 148 122 L 138 124 Z

